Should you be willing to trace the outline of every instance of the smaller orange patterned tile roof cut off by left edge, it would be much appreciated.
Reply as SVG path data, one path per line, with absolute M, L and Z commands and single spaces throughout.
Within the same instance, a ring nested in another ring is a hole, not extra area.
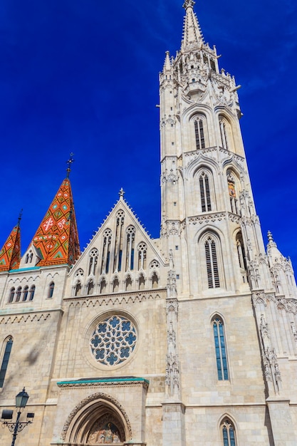
M 12 229 L 0 251 L 0 271 L 18 269 L 21 261 L 21 229 L 17 224 Z

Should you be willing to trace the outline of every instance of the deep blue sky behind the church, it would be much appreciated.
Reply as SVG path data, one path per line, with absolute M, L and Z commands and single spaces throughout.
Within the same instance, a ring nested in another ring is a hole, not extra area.
M 158 72 L 180 48 L 182 0 L 1 0 L 0 244 L 22 251 L 66 175 L 83 248 L 118 199 L 160 231 Z M 296 0 L 201 0 L 204 38 L 236 76 L 256 208 L 297 269 Z

